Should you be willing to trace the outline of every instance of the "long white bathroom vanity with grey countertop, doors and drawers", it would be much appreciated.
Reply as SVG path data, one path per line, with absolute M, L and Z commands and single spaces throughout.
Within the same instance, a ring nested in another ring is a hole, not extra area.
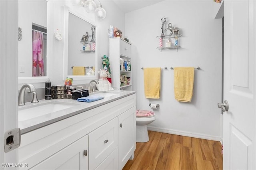
M 24 169 L 121 170 L 129 158 L 133 159 L 135 91 L 110 91 L 104 99 L 92 103 L 72 99 L 50 102 L 69 102 L 74 106 L 19 121 L 22 135 L 18 160 Z

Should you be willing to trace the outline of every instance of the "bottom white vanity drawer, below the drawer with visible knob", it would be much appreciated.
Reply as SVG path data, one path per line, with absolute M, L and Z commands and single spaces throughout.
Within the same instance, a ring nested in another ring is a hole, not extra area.
M 95 170 L 117 170 L 118 169 L 118 147 L 95 169 Z

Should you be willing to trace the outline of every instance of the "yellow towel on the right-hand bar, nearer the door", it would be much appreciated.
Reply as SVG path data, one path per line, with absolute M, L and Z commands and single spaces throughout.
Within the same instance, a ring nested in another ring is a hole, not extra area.
M 194 67 L 174 68 L 174 95 L 180 102 L 191 102 L 194 87 Z

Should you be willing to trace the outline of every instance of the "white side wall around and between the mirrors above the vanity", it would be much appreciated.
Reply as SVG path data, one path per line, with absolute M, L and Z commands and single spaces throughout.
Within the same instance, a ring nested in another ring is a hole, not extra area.
M 48 3 L 52 3 L 52 26 L 53 30 L 59 29 L 59 32 L 63 34 L 63 6 L 68 5 L 71 8 L 76 8 L 75 6 L 72 7 L 71 1 L 48 1 Z M 98 3 L 98 1 L 96 1 Z M 98 34 L 98 42 L 96 43 L 98 48 L 98 68 L 102 69 L 102 59 L 103 55 L 109 54 L 109 41 L 108 41 L 108 28 L 110 25 L 118 27 L 120 30 L 124 32 L 124 12 L 122 12 L 116 4 L 110 0 L 101 1 L 102 7 L 106 10 L 107 15 L 104 20 L 98 20 L 96 18 L 92 18 L 92 15 L 86 13 L 84 10 L 84 15 L 89 15 L 91 20 L 94 20 L 96 23 Z M 80 9 L 83 12 L 83 9 Z M 76 11 L 78 12 L 78 11 Z M 63 41 L 57 41 L 54 37 L 53 40 L 53 66 L 52 66 L 52 84 L 64 84 L 62 79 L 63 75 Z M 82 37 L 81 37 L 82 38 Z M 80 41 L 80 40 L 78 40 Z M 98 74 L 98 73 L 97 73 Z M 75 80 L 73 84 L 85 84 L 89 83 L 90 80 Z

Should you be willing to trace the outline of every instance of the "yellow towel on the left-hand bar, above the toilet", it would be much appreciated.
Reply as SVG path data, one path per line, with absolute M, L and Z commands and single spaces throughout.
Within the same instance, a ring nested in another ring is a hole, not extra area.
M 161 68 L 144 68 L 144 92 L 148 99 L 160 99 Z

